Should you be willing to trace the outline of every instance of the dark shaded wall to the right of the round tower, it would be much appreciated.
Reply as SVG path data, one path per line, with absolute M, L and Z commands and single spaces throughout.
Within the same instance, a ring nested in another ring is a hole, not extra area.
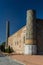
M 43 55 L 43 20 L 37 20 L 37 52 Z

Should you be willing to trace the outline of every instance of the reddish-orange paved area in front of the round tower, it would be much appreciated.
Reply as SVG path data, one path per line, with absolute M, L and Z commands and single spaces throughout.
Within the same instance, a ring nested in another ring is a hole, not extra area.
M 43 55 L 11 55 L 10 57 L 26 65 L 43 65 Z

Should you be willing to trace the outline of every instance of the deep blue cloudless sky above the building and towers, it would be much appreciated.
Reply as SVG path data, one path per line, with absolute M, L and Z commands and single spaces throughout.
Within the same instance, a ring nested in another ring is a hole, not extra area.
M 10 35 L 26 24 L 26 11 L 36 10 L 36 18 L 43 19 L 43 0 L 0 0 L 0 43 L 6 40 L 6 21 Z

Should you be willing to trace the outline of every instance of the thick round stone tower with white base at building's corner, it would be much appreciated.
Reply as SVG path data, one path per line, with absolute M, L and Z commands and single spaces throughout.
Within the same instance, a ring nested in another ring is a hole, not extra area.
M 37 54 L 36 12 L 34 10 L 27 11 L 26 21 L 26 42 L 24 47 L 24 54 Z

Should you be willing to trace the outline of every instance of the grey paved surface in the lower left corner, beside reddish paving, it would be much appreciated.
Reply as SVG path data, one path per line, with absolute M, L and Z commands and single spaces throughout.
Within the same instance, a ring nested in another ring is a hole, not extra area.
M 0 56 L 0 65 L 23 65 L 23 64 L 10 59 L 10 57 Z

